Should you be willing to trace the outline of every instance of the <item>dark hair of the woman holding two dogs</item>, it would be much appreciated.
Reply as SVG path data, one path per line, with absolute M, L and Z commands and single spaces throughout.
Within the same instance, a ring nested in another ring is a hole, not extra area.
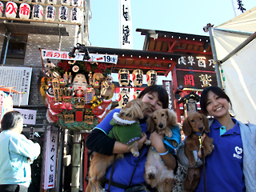
M 167 91 L 162 88 L 162 86 L 152 85 L 147 86 L 140 94 L 138 94 L 138 98 L 143 98 L 145 94 L 158 93 L 158 100 L 162 102 L 162 108 L 166 109 L 169 106 L 169 95 Z

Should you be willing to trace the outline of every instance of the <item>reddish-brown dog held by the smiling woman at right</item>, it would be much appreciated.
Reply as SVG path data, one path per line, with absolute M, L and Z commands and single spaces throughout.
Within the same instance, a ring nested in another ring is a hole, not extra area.
M 186 173 L 186 178 L 183 181 L 183 191 L 190 192 L 196 190 L 198 187 L 202 166 L 193 168 L 196 164 L 194 159 L 194 150 L 199 151 L 200 143 L 199 136 L 210 132 L 208 119 L 205 115 L 198 112 L 189 114 L 182 124 L 182 130 L 187 136 L 185 140 L 184 152 L 189 161 L 189 168 Z M 211 154 L 214 150 L 213 138 L 207 135 L 202 141 L 204 156 Z

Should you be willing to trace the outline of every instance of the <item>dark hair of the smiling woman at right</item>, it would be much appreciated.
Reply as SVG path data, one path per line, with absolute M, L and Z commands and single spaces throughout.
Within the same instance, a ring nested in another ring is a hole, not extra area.
M 200 98 L 200 107 L 201 107 L 201 110 L 202 110 L 202 114 L 205 114 L 205 115 L 208 114 L 208 112 L 206 110 L 206 107 L 207 107 L 207 99 L 208 99 L 209 91 L 214 92 L 214 94 L 217 94 L 218 97 L 220 97 L 220 98 L 226 98 L 226 100 L 228 102 L 230 102 L 229 96 L 227 96 L 227 94 L 224 92 L 224 90 L 222 90 L 222 88 L 220 88 L 218 86 L 208 86 L 208 87 L 206 87 L 204 90 L 202 90 L 201 98 Z M 232 107 L 231 102 L 230 102 L 230 106 Z

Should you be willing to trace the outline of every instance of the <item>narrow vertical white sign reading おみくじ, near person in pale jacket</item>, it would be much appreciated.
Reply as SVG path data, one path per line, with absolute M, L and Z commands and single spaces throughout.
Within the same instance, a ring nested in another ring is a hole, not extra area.
M 46 130 L 46 150 L 43 189 L 54 188 L 55 170 L 58 150 L 58 129 L 54 126 L 48 126 Z

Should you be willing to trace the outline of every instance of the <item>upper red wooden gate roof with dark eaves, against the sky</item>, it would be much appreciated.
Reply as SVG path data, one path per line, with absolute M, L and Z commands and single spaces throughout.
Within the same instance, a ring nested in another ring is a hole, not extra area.
M 162 30 L 137 29 L 136 31 L 146 36 L 143 50 L 212 55 L 209 36 L 181 34 Z

